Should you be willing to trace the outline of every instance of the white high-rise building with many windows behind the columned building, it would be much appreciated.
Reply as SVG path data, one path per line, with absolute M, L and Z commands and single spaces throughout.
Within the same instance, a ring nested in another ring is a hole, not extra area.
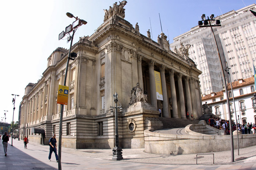
M 246 79 L 253 73 L 252 66 L 256 65 L 256 17 L 249 11 L 255 10 L 256 5 L 230 11 L 215 19 L 221 21 L 221 27 L 213 27 L 223 67 L 226 62 L 230 68 L 231 81 Z M 212 21 L 211 24 L 215 24 Z M 210 27 L 197 25 L 173 39 L 170 44 L 172 51 L 180 48 L 181 43 L 190 44 L 189 58 L 202 71 L 199 76 L 202 94 L 210 94 L 223 90 L 221 68 L 217 48 Z

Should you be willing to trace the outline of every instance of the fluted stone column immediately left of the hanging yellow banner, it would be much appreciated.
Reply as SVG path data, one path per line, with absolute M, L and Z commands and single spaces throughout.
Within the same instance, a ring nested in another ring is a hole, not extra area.
M 154 73 L 154 64 L 155 61 L 150 60 L 148 62 L 148 70 L 149 70 L 149 81 L 150 81 L 150 98 L 151 105 L 157 108 L 157 92 L 155 88 L 155 73 Z

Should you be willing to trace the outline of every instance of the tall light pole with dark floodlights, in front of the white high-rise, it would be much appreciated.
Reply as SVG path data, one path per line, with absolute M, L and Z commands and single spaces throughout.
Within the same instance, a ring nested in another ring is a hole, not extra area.
M 227 98 L 227 105 L 229 106 L 229 94 L 227 92 L 227 83 L 226 83 L 226 79 L 225 79 L 225 75 L 224 75 L 223 64 L 222 64 L 222 61 L 221 61 L 221 56 L 219 54 L 219 48 L 218 48 L 217 41 L 216 41 L 216 38 L 215 38 L 215 35 L 214 35 L 214 31 L 212 29 L 212 27 L 221 26 L 221 22 L 220 22 L 220 20 L 214 19 L 214 15 L 213 14 L 210 16 L 211 19 L 209 19 L 209 17 L 207 17 L 208 19 L 206 19 L 205 14 L 203 14 L 201 18 L 202 18 L 202 21 L 198 21 L 199 27 L 211 27 L 211 32 L 212 32 L 212 35 L 214 37 L 214 41 L 215 41 L 215 44 L 216 44 L 216 47 L 217 47 L 217 51 L 218 51 L 219 62 L 221 64 L 222 80 L 224 82 L 226 98 Z M 215 25 L 211 25 L 211 21 L 215 21 Z M 230 111 L 230 107 L 227 107 L 227 109 L 228 109 L 228 112 L 229 112 L 231 162 L 234 162 L 234 141 L 233 141 L 233 133 L 231 133 L 231 131 L 232 131 L 231 111 Z

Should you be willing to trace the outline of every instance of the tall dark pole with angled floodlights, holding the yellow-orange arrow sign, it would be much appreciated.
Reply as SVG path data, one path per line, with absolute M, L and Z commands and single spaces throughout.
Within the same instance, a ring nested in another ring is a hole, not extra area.
M 73 18 L 74 15 L 72 13 L 69 13 L 67 12 L 66 15 L 69 17 L 69 18 Z M 82 19 L 79 19 L 78 17 L 74 17 L 76 20 L 68 25 L 65 29 L 66 32 L 62 31 L 60 34 L 59 34 L 59 40 L 62 39 L 67 33 L 69 34 L 69 32 L 73 31 L 73 34 L 72 36 L 70 37 L 69 40 L 71 40 L 71 43 L 70 43 L 70 47 L 69 47 L 69 51 L 68 51 L 68 60 L 67 60 L 67 66 L 66 66 L 66 72 L 65 72 L 65 77 L 64 77 L 64 86 L 66 86 L 66 83 L 67 83 L 67 73 L 68 73 L 68 63 L 69 63 L 69 60 L 75 60 L 77 54 L 75 52 L 72 52 L 71 53 L 71 48 L 72 48 L 72 42 L 73 42 L 73 37 L 75 35 L 75 32 L 76 32 L 76 29 L 78 27 L 80 27 L 81 25 L 85 25 L 87 24 L 87 22 L 85 20 L 82 20 Z M 59 162 L 58 162 L 58 167 L 59 167 L 59 170 L 61 170 L 61 141 L 62 141 L 62 122 L 63 122 L 63 108 L 64 108 L 64 105 L 61 104 L 61 107 L 60 107 L 60 127 L 59 127 L 59 151 L 58 151 L 58 154 L 59 154 Z

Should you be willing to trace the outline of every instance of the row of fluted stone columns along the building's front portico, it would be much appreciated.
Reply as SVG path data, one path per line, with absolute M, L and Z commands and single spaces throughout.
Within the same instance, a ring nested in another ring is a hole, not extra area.
M 138 82 L 140 83 L 140 87 L 143 87 L 143 78 L 142 78 L 142 59 L 143 56 L 138 55 L 137 56 L 137 66 L 138 66 Z M 148 61 L 148 70 L 149 70 L 149 79 L 150 79 L 150 96 L 151 100 L 150 103 L 152 106 L 157 108 L 157 94 L 156 94 L 156 87 L 155 87 L 155 75 L 154 75 L 154 66 L 156 62 L 154 60 Z M 201 107 L 198 102 L 202 99 L 200 99 L 200 95 L 196 96 L 196 90 L 198 90 L 199 94 L 200 92 L 200 86 L 199 80 L 196 80 L 192 78 L 191 76 L 183 75 L 182 73 L 179 73 L 175 71 L 172 68 L 167 68 L 163 64 L 159 66 L 160 75 L 161 75 L 161 82 L 162 82 L 162 92 L 163 92 L 163 103 L 162 103 L 162 113 L 163 117 L 170 117 L 169 114 L 169 105 L 168 105 L 168 95 L 167 95 L 167 86 L 166 86 L 166 77 L 165 73 L 166 71 L 169 73 L 170 78 L 170 91 L 171 91 L 171 97 L 172 97 L 172 110 L 173 110 L 173 118 L 179 118 L 178 113 L 180 112 L 181 118 L 186 119 L 186 112 L 189 112 L 189 117 L 191 116 L 191 113 L 193 113 L 194 118 L 199 118 L 202 115 Z M 178 79 L 178 99 L 179 99 L 179 105 L 177 103 L 177 94 L 176 94 L 176 87 L 175 87 L 175 80 L 174 76 Z M 182 81 L 184 80 L 184 81 Z M 185 82 L 185 83 L 183 83 Z M 197 88 L 195 83 L 197 83 Z M 185 97 L 187 101 L 187 111 L 185 110 L 185 98 L 184 98 L 184 87 L 185 86 Z M 198 102 L 196 102 L 198 101 Z M 202 105 L 202 104 L 201 104 Z M 178 108 L 178 106 L 180 106 Z

